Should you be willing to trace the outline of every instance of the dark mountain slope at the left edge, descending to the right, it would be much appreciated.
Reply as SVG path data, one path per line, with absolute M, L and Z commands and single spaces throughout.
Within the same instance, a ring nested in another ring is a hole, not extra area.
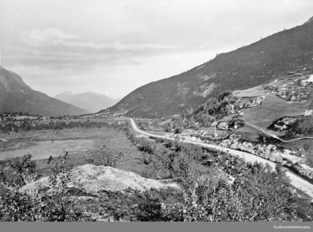
M 32 90 L 18 74 L 0 66 L 0 112 L 8 111 L 23 111 L 42 116 L 89 113 L 44 93 Z

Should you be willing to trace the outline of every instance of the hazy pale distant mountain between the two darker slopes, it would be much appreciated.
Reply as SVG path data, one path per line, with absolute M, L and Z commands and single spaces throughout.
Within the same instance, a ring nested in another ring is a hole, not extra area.
M 54 96 L 54 98 L 69 103 L 73 106 L 80 107 L 92 113 L 113 106 L 121 100 L 112 99 L 107 97 L 106 95 L 92 92 L 86 92 L 76 95 L 73 95 L 71 92 L 64 92 Z

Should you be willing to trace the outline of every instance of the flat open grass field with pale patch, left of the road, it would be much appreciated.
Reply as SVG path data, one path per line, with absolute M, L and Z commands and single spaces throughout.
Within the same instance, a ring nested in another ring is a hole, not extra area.
M 52 130 L 26 131 L 4 134 L 1 138 L 8 141 L 0 142 L 2 161 L 30 153 L 32 159 L 44 168 L 50 156 L 59 157 L 67 151 L 69 162 L 77 167 L 86 164 L 85 157 L 102 151 L 101 147 L 105 145 L 110 151 L 123 153 L 116 168 L 139 173 L 144 166 L 140 162 L 141 152 L 132 145 L 123 131 L 114 128 L 64 129 L 59 130 L 58 134 Z

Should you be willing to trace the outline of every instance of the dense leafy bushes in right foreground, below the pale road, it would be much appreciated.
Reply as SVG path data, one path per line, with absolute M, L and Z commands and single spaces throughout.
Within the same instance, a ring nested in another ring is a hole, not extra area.
M 279 164 L 271 172 L 268 165 L 211 152 L 217 162 L 203 172 L 198 168 L 202 148 L 180 144 L 175 151 L 162 153 L 156 147 L 151 147 L 149 164 L 141 175 L 180 182 L 185 200 L 167 203 L 180 212 L 173 221 L 290 221 L 300 220 L 303 210 L 312 215 L 309 201 L 291 193 L 290 180 Z M 228 184 L 228 174 L 235 178 L 233 184 Z

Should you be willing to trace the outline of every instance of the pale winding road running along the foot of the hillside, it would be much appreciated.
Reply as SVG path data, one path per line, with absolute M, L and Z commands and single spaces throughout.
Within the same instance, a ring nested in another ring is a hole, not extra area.
M 132 118 L 129 118 L 129 119 L 131 120 L 131 125 L 132 125 L 133 129 L 135 131 L 143 134 L 143 135 L 151 136 L 154 138 L 163 138 L 163 139 L 175 140 L 174 138 L 169 138 L 169 137 L 160 136 L 160 135 L 154 135 L 154 134 L 150 134 L 150 133 L 145 132 L 145 131 L 141 131 L 137 128 L 135 121 Z M 274 162 L 271 162 L 271 161 L 266 160 L 262 157 L 250 154 L 248 152 L 237 151 L 237 150 L 233 150 L 231 148 L 221 147 L 221 146 L 202 143 L 202 142 L 192 142 L 192 141 L 187 141 L 187 140 L 180 140 L 180 142 L 192 143 L 192 144 L 200 145 L 202 147 L 208 147 L 208 148 L 213 148 L 213 149 L 218 150 L 218 151 L 228 152 L 231 155 L 235 155 L 235 156 L 239 156 L 240 158 L 244 158 L 244 160 L 246 160 L 246 162 L 259 162 L 259 163 L 263 163 L 263 164 L 268 163 L 269 166 L 272 167 L 273 170 L 275 170 L 275 163 Z M 305 193 L 308 197 L 313 199 L 313 184 L 307 182 L 305 179 L 301 178 L 300 176 L 296 175 L 295 173 L 290 172 L 287 168 L 284 168 L 284 169 L 286 170 L 286 175 L 291 180 L 290 184 L 294 188 L 299 189 L 300 191 Z

